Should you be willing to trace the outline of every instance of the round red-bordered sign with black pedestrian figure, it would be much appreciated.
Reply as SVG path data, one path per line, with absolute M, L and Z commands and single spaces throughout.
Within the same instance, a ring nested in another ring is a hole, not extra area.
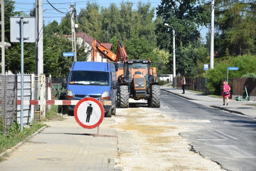
M 84 128 L 92 129 L 100 125 L 104 118 L 104 108 L 100 101 L 86 97 L 78 101 L 74 109 L 76 122 Z

